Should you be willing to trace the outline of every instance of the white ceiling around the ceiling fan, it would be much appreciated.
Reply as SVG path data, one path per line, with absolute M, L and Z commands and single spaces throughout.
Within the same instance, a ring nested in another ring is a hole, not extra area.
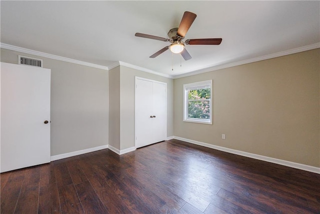
M 319 1 L 1 1 L 1 43 L 101 66 L 121 61 L 178 75 L 320 42 Z M 186 46 L 180 67 L 167 38 L 184 11 L 197 15 L 185 39 L 222 38 L 219 46 Z M 172 69 L 173 62 L 173 71 Z

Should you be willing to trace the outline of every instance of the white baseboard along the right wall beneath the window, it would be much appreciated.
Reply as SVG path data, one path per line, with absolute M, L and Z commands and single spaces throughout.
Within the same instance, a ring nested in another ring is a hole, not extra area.
M 301 163 L 295 163 L 295 162 L 291 162 L 291 161 L 287 161 L 287 160 L 276 159 L 276 158 L 273 158 L 273 157 L 267 157 L 267 156 L 253 154 L 253 153 L 244 152 L 244 151 L 239 151 L 239 150 L 235 150 L 235 149 L 229 149 L 229 148 L 225 148 L 225 147 L 222 147 L 222 146 L 216 146 L 216 145 L 203 143 L 203 142 L 199 142 L 199 141 L 196 141 L 196 140 L 190 140 L 190 139 L 177 137 L 177 136 L 173 136 L 173 138 L 177 139 L 177 140 L 182 140 L 182 141 L 185 141 L 185 142 L 188 142 L 188 143 L 192 143 L 192 144 L 195 144 L 195 145 L 200 145 L 200 146 L 204 146 L 204 147 L 208 147 L 208 148 L 212 148 L 212 149 L 216 149 L 216 150 L 220 150 L 220 151 L 225 151 L 225 152 L 232 153 L 232 154 L 241 155 L 241 156 L 244 156 L 244 157 L 250 157 L 250 158 L 263 160 L 263 161 L 270 162 L 270 163 L 276 163 L 276 164 L 279 164 L 279 165 L 288 166 L 288 167 L 292 167 L 292 168 L 301 169 L 301 170 L 310 171 L 310 172 L 314 172 L 314 173 L 320 174 L 320 168 L 319 167 L 315 167 L 315 166 L 305 165 L 305 164 L 301 164 Z

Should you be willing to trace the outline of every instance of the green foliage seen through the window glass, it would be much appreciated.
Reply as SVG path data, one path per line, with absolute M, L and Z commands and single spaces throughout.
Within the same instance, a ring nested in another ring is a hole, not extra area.
M 210 119 L 210 88 L 188 91 L 188 118 Z

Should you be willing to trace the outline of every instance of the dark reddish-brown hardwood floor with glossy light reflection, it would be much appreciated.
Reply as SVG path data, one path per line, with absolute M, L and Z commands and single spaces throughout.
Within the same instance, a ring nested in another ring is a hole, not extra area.
M 320 175 L 169 140 L 0 174 L 1 213 L 320 213 Z

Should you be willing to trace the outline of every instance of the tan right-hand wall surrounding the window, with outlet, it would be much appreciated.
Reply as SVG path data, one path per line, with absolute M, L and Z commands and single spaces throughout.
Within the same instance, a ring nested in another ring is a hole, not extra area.
M 174 136 L 320 166 L 320 49 L 174 80 Z M 213 124 L 182 122 L 182 87 L 213 80 Z M 226 139 L 221 139 L 226 134 Z

